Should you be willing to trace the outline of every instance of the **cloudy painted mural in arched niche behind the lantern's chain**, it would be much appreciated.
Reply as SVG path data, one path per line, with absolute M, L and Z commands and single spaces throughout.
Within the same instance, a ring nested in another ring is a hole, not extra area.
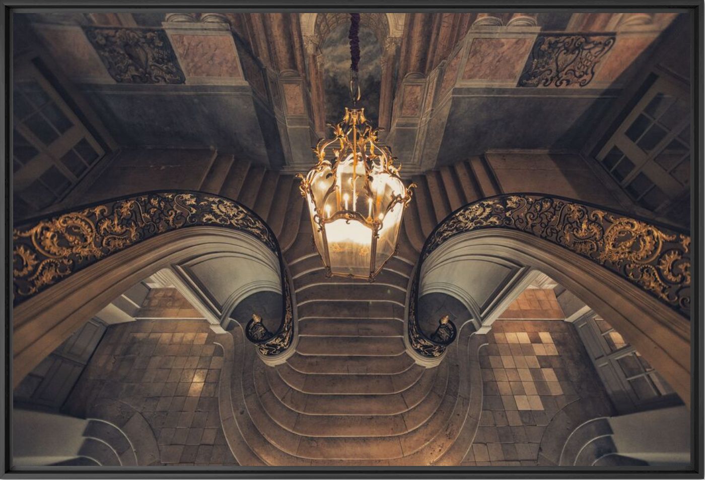
M 349 23 L 337 25 L 321 44 L 323 56 L 324 91 L 326 95 L 326 122 L 337 124 L 350 105 L 350 44 Z M 379 116 L 379 87 L 381 82 L 381 45 L 374 31 L 360 26 L 360 90 L 362 107 L 367 119 L 377 123 Z

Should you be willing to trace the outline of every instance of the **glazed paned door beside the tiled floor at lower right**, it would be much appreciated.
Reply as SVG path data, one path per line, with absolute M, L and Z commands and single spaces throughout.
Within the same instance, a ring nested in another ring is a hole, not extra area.
M 575 327 L 620 413 L 678 402 L 666 380 L 607 320 L 591 313 Z

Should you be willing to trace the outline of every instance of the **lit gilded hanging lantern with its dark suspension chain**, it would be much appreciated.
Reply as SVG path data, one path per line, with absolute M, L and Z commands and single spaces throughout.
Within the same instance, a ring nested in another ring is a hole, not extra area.
M 377 129 L 364 117 L 357 85 L 357 25 L 351 14 L 350 92 L 353 108 L 345 107 L 343 121 L 333 127 L 335 138 L 321 139 L 314 152 L 318 163 L 301 179 L 314 243 L 326 275 L 366 278 L 370 282 L 396 253 L 404 209 L 411 200 L 390 150 L 379 145 Z

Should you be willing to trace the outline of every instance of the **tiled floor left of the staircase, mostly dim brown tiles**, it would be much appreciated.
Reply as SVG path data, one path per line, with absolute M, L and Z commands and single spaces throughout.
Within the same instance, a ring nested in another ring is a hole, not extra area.
M 137 320 L 108 329 L 67 405 L 84 416 L 120 400 L 152 426 L 164 464 L 235 464 L 221 428 L 223 352 L 205 320 Z

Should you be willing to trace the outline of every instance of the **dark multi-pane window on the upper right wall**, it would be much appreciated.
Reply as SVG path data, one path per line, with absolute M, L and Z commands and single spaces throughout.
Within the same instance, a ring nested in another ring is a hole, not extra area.
M 658 78 L 597 159 L 639 205 L 663 212 L 690 183 L 689 92 Z

